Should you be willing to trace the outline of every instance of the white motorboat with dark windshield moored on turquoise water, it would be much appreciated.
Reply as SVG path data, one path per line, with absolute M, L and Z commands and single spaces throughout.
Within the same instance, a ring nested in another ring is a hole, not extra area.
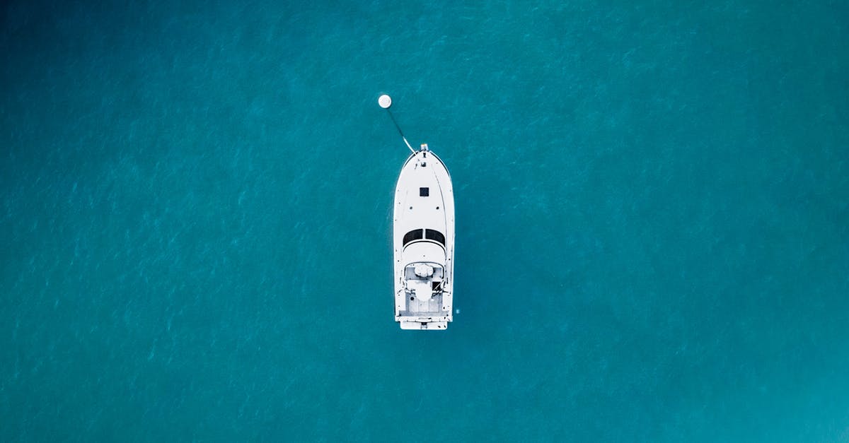
M 454 193 L 426 144 L 401 168 L 394 208 L 395 321 L 402 329 L 445 329 L 453 320 Z

